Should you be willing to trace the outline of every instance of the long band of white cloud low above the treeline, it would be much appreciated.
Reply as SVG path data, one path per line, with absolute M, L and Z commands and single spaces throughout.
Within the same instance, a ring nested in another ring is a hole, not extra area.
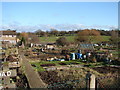
M 44 30 L 44 31 L 49 31 L 51 29 L 57 29 L 57 30 L 78 30 L 78 29 L 86 29 L 86 28 L 94 28 L 94 29 L 106 29 L 106 30 L 111 30 L 111 29 L 117 29 L 117 26 L 113 25 L 91 25 L 91 26 L 86 26 L 83 24 L 39 24 L 39 25 L 21 25 L 20 23 L 14 22 L 8 25 L 2 25 L 0 27 L 1 30 L 7 30 L 7 29 L 12 29 L 12 30 L 17 30 L 18 32 L 34 32 L 38 29 Z

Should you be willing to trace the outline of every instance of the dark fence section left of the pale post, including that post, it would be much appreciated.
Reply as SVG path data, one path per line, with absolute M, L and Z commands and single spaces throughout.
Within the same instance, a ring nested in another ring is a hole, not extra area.
M 88 72 L 86 74 L 85 78 L 80 78 L 79 80 L 68 80 L 68 81 L 62 81 L 62 82 L 57 82 L 48 85 L 48 89 L 58 89 L 58 88 L 69 88 L 69 89 L 74 89 L 74 88 L 82 88 L 82 89 L 88 89 L 88 88 L 95 88 L 95 76 L 90 74 Z

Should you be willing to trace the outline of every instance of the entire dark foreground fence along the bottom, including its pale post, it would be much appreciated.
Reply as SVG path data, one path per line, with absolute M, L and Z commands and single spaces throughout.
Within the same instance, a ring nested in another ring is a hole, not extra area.
M 90 72 L 87 73 L 86 78 L 81 78 L 79 80 L 69 80 L 63 82 L 57 82 L 48 85 L 48 89 L 56 90 L 58 88 L 82 88 L 86 90 L 94 89 L 100 90 L 103 89 L 118 89 L 120 88 L 120 76 L 105 76 L 96 78 L 95 75 Z

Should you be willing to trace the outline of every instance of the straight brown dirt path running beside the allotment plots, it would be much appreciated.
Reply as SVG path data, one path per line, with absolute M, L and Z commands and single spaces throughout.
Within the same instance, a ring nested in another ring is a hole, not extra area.
M 29 60 L 24 56 L 21 52 L 20 57 L 22 60 L 22 66 L 25 66 L 25 75 L 28 79 L 30 88 L 45 88 L 47 84 L 45 84 L 40 78 L 38 72 L 36 72 L 29 63 Z

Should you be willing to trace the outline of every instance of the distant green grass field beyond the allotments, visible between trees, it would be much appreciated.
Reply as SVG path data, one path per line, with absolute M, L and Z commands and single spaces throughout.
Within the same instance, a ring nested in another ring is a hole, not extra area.
M 60 37 L 62 36 L 39 37 L 39 38 L 40 38 L 40 42 L 42 43 L 53 43 Z M 65 36 L 65 37 L 69 42 L 74 42 L 76 36 Z M 100 41 L 109 41 L 109 38 L 110 36 L 100 36 L 99 40 L 96 40 L 96 38 L 92 38 L 92 39 L 93 39 L 93 42 L 97 43 Z

